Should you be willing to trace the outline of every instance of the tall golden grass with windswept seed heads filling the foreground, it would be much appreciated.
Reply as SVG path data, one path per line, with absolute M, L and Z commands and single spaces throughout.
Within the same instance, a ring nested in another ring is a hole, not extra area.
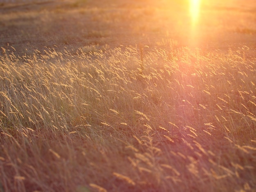
M 30 54 L 4 44 L 0 190 L 255 191 L 252 41 L 222 50 L 63 42 Z

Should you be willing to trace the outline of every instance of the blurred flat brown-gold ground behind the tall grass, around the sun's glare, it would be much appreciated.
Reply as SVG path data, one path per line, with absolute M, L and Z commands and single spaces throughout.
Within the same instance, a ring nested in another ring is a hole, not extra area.
M 19 1 L 19 0 L 17 0 Z M 33 3 L 34 1 L 34 3 Z M 31 0 L 0 4 L 0 47 L 15 47 L 19 56 L 45 47 L 63 52 L 83 46 L 108 44 L 155 47 L 174 39 L 191 45 L 189 0 Z M 254 47 L 254 0 L 206 1 L 201 6 L 195 47 L 202 50 Z M 162 46 L 161 48 L 164 48 Z

